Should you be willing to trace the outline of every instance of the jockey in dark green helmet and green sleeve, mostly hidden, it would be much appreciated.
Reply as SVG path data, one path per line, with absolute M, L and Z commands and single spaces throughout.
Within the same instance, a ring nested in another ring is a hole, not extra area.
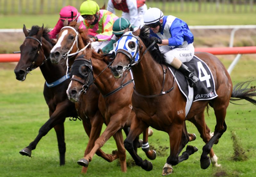
M 113 37 L 109 43 L 102 48 L 102 52 L 105 54 L 110 53 L 115 48 L 116 41 L 127 31 L 136 31 L 138 27 L 132 26 L 130 21 L 126 18 L 120 17 L 113 24 Z M 111 52 L 112 53 L 112 52 Z

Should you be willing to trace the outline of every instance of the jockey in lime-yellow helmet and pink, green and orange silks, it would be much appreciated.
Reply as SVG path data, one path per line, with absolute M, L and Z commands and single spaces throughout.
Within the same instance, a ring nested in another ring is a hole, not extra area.
M 80 13 L 84 18 L 85 27 L 95 33 L 90 39 L 92 48 L 98 51 L 111 40 L 112 27 L 118 17 L 110 11 L 100 10 L 99 5 L 92 0 L 84 1 L 81 4 Z

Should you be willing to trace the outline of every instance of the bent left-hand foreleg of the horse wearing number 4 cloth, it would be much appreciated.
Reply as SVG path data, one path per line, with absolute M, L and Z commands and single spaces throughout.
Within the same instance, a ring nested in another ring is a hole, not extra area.
M 134 151 L 133 149 L 134 139 L 137 136 L 139 136 L 143 130 L 147 128 L 148 125 L 145 122 L 142 122 L 137 117 L 133 117 L 129 135 L 124 140 L 124 147 L 130 153 L 137 166 L 140 166 L 142 169 L 146 171 L 150 171 L 153 169 L 152 163 L 148 160 L 142 160 L 140 156 L 136 153 L 136 151 Z

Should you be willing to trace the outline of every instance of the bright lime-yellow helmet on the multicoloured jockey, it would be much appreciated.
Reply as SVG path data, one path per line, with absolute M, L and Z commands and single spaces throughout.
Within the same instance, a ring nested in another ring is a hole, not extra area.
M 81 15 L 94 15 L 99 10 L 99 5 L 92 0 L 84 1 L 80 6 Z

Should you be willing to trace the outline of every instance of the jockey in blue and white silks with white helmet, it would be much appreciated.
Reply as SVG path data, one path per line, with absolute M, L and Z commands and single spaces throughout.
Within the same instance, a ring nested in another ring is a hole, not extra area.
M 199 79 L 183 64 L 189 62 L 195 53 L 194 35 L 187 23 L 172 15 L 164 16 L 158 8 L 149 8 L 143 18 L 150 29 L 150 37 L 164 53 L 166 63 L 184 74 L 190 87 L 194 87 Z

